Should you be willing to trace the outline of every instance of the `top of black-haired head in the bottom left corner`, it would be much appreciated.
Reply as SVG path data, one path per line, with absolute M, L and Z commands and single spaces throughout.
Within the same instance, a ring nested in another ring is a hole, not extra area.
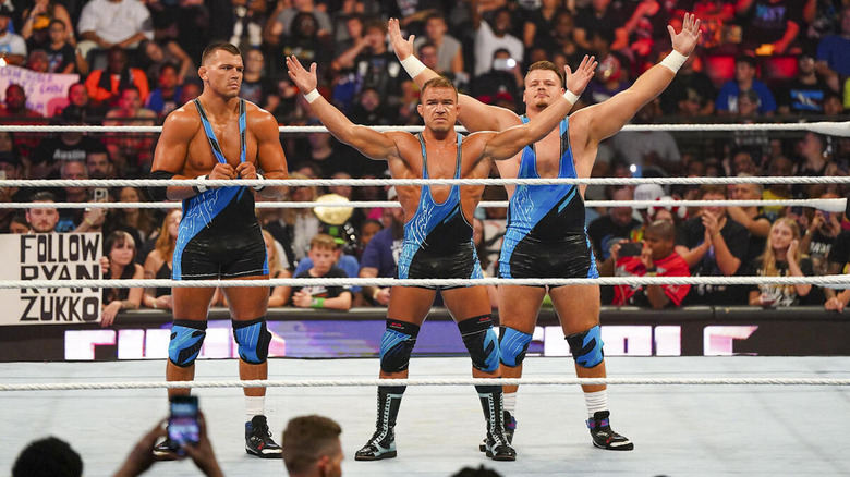
M 80 477 L 83 460 L 68 442 L 54 437 L 31 442 L 15 460 L 12 477 Z

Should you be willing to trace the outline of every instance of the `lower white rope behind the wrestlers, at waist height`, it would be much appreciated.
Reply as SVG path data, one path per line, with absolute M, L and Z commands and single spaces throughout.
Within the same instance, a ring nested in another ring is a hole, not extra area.
M 787 200 L 587 200 L 585 207 L 785 207 L 801 206 L 830 212 L 843 212 L 847 199 L 787 199 Z M 5 203 L 0 204 L 0 209 L 177 209 L 181 203 Z M 258 209 L 302 209 L 311 207 L 401 207 L 394 200 L 352 200 L 348 203 L 320 203 L 320 201 L 258 201 L 254 204 Z M 507 208 L 507 200 L 482 200 L 478 207 Z

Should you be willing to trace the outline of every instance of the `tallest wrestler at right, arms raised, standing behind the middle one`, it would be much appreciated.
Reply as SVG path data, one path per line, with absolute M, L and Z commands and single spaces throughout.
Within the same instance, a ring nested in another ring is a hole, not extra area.
M 502 178 L 588 178 L 599 142 L 612 136 L 644 105 L 658 96 L 693 51 L 700 22 L 684 16 L 682 30 L 670 32 L 673 51 L 634 85 L 609 100 L 564 118 L 559 129 L 526 147 L 511 160 L 498 162 Z M 436 76 L 413 56 L 413 37 L 401 37 L 398 21 L 390 21 L 396 54 L 420 87 Z M 460 97 L 461 124 L 470 131 L 503 131 L 548 111 L 563 91 L 554 64 L 541 61 L 525 75 L 526 115 Z M 595 259 L 584 228 L 585 185 L 508 186 L 508 230 L 499 257 L 499 276 L 512 278 L 597 278 Z M 547 288 L 499 286 L 501 372 L 522 375 L 522 360 L 532 341 L 541 303 Z M 599 337 L 599 286 L 569 285 L 548 289 L 581 378 L 603 378 L 605 360 Z M 593 443 L 608 450 L 631 450 L 632 442 L 611 430 L 605 386 L 584 386 Z M 505 387 L 506 431 L 512 439 L 517 387 Z

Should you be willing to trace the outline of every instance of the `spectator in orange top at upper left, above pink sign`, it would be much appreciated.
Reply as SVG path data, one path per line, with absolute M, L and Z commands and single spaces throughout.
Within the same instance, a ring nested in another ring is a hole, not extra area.
M 96 1 L 109 2 L 110 0 Z M 132 0 L 120 1 L 131 2 Z M 86 7 L 92 3 L 86 4 Z M 121 47 L 111 47 L 107 52 L 107 68 L 93 71 L 86 78 L 89 98 L 104 106 L 114 106 L 121 91 L 131 86 L 138 89 L 139 99 L 144 103 L 150 90 L 147 75 L 137 68 L 130 68 L 126 50 Z

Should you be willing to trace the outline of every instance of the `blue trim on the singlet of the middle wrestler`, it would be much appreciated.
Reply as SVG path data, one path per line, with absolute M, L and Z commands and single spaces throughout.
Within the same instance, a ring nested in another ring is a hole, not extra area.
M 418 135 L 422 145 L 422 178 L 428 179 L 428 156 L 425 151 L 425 139 Z M 458 154 L 456 157 L 454 179 L 461 176 L 461 143 L 463 136 L 458 133 Z M 416 213 L 404 224 L 404 244 L 399 256 L 398 276 L 400 279 L 406 279 L 410 272 L 410 264 L 413 256 L 425 243 L 428 234 L 440 223 L 448 222 L 456 215 L 463 217 L 460 201 L 460 185 L 452 184 L 449 196 L 441 204 L 434 200 L 430 193 L 430 185 L 425 184 L 420 192 L 420 204 Z M 463 217 L 466 221 L 466 218 Z M 466 222 L 469 224 L 469 222 Z M 472 228 L 472 225 L 470 225 Z M 474 277 L 472 277 L 474 278 Z

